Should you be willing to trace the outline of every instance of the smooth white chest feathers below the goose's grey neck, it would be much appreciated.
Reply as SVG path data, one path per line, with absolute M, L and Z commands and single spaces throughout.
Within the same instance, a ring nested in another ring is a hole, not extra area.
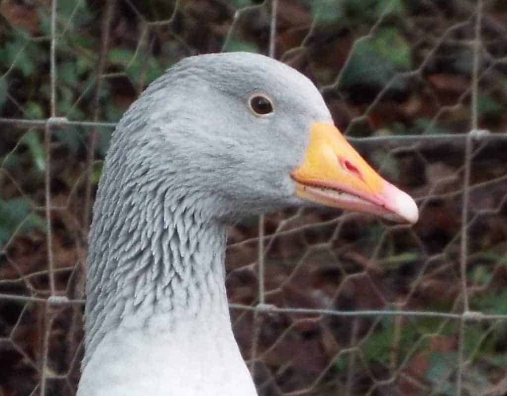
M 228 316 L 120 327 L 97 346 L 78 396 L 257 396 Z

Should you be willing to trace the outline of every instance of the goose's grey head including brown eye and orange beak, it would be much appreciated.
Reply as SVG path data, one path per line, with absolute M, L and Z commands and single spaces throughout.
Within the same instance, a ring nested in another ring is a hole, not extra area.
M 147 127 L 127 128 L 142 118 Z M 309 203 L 414 223 L 414 201 L 347 143 L 315 86 L 250 53 L 187 58 L 152 84 L 118 130 L 129 162 L 155 169 L 206 217 Z M 123 143 L 125 147 L 125 143 Z

